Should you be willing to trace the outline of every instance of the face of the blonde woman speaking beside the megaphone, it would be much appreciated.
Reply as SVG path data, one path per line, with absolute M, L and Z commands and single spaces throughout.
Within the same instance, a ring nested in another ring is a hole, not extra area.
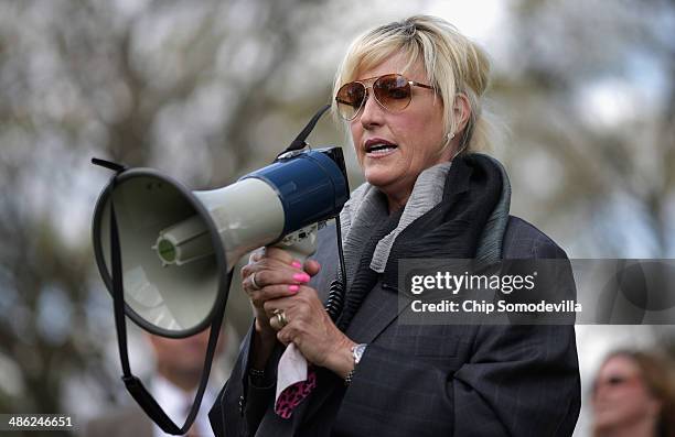
M 404 72 L 406 64 L 401 55 L 394 55 L 375 68 L 360 70 L 357 78 L 363 80 L 399 73 L 408 80 L 427 84 L 419 62 Z M 413 86 L 410 105 L 399 112 L 381 107 L 368 88 L 368 98 L 351 121 L 351 131 L 365 178 L 387 195 L 389 209 L 405 205 L 417 176 L 425 168 L 449 161 L 454 152 L 449 145 L 442 154 L 439 153 L 446 141 L 443 102 L 440 96 L 427 88 Z M 377 143 L 388 144 L 389 149 L 369 151 Z

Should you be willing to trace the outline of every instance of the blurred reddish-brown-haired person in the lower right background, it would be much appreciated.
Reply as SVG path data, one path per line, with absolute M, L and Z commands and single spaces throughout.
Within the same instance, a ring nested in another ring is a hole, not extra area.
M 593 437 L 675 437 L 674 365 L 656 353 L 610 353 L 593 383 Z

